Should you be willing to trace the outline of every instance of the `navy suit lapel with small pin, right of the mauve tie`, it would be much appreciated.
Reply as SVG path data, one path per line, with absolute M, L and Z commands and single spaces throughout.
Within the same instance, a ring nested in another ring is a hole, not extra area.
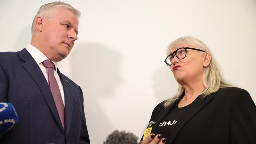
M 59 78 L 61 79 L 61 83 L 63 85 L 64 96 L 65 96 L 65 133 L 69 132 L 71 120 L 72 120 L 72 112 L 74 106 L 74 99 L 72 97 L 72 92 L 70 91 L 70 84 L 67 78 L 57 70 L 59 74 Z

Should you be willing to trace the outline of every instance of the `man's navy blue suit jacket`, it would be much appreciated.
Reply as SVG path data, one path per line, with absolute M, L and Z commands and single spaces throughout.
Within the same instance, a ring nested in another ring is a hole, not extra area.
M 0 138 L 2 144 L 89 144 L 82 89 L 61 74 L 65 130 L 41 69 L 24 48 L 0 53 L 0 102 L 15 107 L 19 122 Z

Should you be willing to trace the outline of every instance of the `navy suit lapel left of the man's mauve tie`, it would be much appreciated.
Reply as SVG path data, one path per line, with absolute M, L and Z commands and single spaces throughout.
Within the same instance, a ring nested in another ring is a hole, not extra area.
M 61 125 L 61 121 L 59 118 L 59 114 L 52 96 L 52 92 L 50 90 L 50 87 L 45 79 L 45 76 L 43 75 L 41 69 L 33 59 L 33 57 L 29 54 L 29 52 L 24 48 L 23 50 L 17 52 L 20 59 L 25 61 L 22 66 L 27 70 L 27 72 L 32 76 L 32 78 L 37 83 L 39 89 L 43 93 L 43 96 L 45 97 L 45 100 L 48 104 L 48 107 L 52 111 L 52 114 L 54 115 L 54 118 L 56 119 L 59 127 L 61 128 L 63 134 L 64 130 Z

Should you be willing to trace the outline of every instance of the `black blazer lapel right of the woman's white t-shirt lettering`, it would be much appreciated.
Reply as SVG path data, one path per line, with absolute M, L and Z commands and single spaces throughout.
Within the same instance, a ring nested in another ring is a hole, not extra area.
M 180 132 L 180 129 L 193 117 L 197 114 L 207 103 L 209 103 L 214 98 L 213 95 L 209 95 L 205 98 L 198 96 L 192 105 L 184 112 L 182 118 L 174 127 L 174 133 L 171 133 L 168 137 L 170 144 L 173 142 L 176 135 Z

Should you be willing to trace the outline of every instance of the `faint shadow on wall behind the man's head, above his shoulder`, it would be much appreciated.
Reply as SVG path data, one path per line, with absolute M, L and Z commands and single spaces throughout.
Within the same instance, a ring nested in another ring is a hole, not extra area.
M 18 35 L 13 51 L 17 52 L 25 48 L 31 42 L 31 26 L 26 26 Z

